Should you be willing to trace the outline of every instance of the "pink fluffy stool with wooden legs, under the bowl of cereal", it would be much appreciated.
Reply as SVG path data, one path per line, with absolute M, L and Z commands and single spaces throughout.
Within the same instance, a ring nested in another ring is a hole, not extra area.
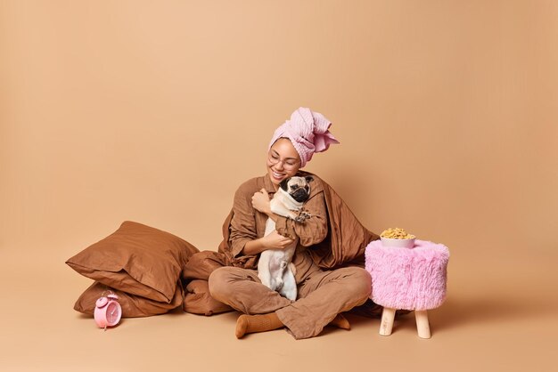
M 370 298 L 383 306 L 380 335 L 391 335 L 396 309 L 405 309 L 414 311 L 418 336 L 430 338 L 427 311 L 446 299 L 447 247 L 418 239 L 413 248 L 383 247 L 378 239 L 366 247 L 365 259 Z

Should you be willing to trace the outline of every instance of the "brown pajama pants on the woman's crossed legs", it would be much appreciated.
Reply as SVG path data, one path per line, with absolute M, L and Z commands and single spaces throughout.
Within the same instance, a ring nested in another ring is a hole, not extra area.
M 222 267 L 209 276 L 209 293 L 246 314 L 273 312 L 296 339 L 318 335 L 340 312 L 363 304 L 371 292 L 370 274 L 358 267 L 316 270 L 298 284 L 297 301 L 267 288 L 258 271 Z

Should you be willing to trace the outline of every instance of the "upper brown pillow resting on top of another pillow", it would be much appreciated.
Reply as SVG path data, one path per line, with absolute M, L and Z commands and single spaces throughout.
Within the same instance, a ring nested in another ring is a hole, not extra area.
M 130 295 L 172 303 L 188 259 L 199 252 L 184 239 L 125 221 L 66 263 L 80 274 Z

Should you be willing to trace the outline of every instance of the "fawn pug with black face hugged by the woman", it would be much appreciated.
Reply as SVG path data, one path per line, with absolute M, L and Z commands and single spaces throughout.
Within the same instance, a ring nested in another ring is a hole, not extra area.
M 304 203 L 310 197 L 310 184 L 312 176 L 290 177 L 279 184 L 279 190 L 269 201 L 271 211 L 283 217 L 291 218 L 296 222 L 303 223 L 311 217 L 306 211 L 300 212 Z M 267 236 L 275 230 L 275 221 L 267 218 Z M 280 295 L 295 301 L 297 299 L 297 283 L 294 279 L 294 264 L 291 263 L 292 255 L 299 243 L 295 239 L 289 247 L 284 249 L 267 249 L 259 256 L 258 278 L 266 287 L 279 292 Z

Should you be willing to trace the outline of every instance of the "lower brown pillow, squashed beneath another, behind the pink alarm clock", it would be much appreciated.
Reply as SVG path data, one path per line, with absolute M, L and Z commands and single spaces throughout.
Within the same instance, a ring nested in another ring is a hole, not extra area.
M 91 287 L 79 296 L 74 305 L 74 309 L 84 314 L 93 316 L 95 302 L 103 292 L 111 290 L 119 296 L 119 303 L 122 307 L 122 318 L 149 317 L 151 315 L 163 314 L 180 307 L 184 301 L 184 291 L 182 285 L 176 286 L 175 295 L 170 303 L 150 300 L 139 295 L 130 295 L 117 289 L 107 287 L 95 281 Z M 107 295 L 105 292 L 104 295 Z

